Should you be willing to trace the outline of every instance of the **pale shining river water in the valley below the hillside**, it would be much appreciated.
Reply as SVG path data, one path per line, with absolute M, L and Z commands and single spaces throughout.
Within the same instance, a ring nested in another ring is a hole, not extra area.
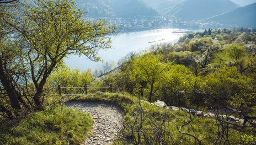
M 145 30 L 137 32 L 127 32 L 120 33 L 117 35 L 111 35 L 112 40 L 112 49 L 109 50 L 100 50 L 100 58 L 104 62 L 115 61 L 116 63 L 120 58 L 126 56 L 130 52 L 140 52 L 145 49 L 149 49 L 153 44 L 160 44 L 163 42 L 171 42 L 174 44 L 178 41 L 180 36 L 183 36 L 184 33 L 172 33 L 172 31 L 177 31 L 180 29 L 156 29 L 156 30 Z M 180 30 L 188 31 L 188 30 Z M 162 41 L 152 42 L 149 41 L 164 39 Z M 88 60 L 86 56 L 76 56 L 71 55 L 68 58 L 65 58 L 65 63 L 71 68 L 79 68 L 81 71 L 84 71 L 88 68 L 91 68 L 92 71 L 95 68 L 100 68 L 102 62 L 93 62 Z

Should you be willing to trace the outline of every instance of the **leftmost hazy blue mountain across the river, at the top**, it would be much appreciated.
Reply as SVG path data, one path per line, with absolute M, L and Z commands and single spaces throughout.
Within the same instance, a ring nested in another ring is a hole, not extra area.
M 158 13 L 140 0 L 76 0 L 89 17 L 154 17 Z

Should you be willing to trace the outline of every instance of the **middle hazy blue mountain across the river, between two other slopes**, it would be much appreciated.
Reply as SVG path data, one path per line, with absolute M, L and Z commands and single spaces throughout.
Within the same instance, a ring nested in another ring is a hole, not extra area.
M 142 0 L 166 17 L 180 20 L 200 20 L 236 9 L 230 0 Z

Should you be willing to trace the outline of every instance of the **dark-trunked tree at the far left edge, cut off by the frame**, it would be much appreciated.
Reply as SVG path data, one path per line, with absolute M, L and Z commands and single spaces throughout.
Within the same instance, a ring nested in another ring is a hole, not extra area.
M 11 13 L 8 12 L 7 6 L 8 8 L 10 7 L 7 4 L 0 5 L 0 111 L 6 112 L 9 119 L 11 119 L 12 112 L 18 114 L 20 109 L 22 109 L 20 103 L 25 107 L 28 107 L 28 105 L 22 99 L 17 89 L 15 89 L 18 86 L 19 79 L 22 77 L 20 75 L 19 62 L 23 53 L 23 42 L 20 39 L 9 37 L 9 34 L 13 33 L 13 29 L 10 29 L 10 26 L 4 23 L 4 19 L 8 19 L 4 17 L 6 17 L 7 13 Z M 11 106 L 12 110 L 8 106 Z

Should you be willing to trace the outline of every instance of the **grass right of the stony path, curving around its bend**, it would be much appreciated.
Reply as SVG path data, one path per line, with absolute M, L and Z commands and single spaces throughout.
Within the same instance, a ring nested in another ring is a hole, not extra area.
M 105 101 L 124 109 L 124 123 L 117 144 L 198 144 L 187 135 L 179 133 L 178 128 L 190 120 L 190 114 L 184 111 L 174 111 L 159 108 L 142 102 L 137 103 L 136 97 L 122 93 L 100 93 L 72 96 L 70 101 Z M 217 138 L 218 127 L 211 118 L 199 118 L 182 128 L 182 132 L 191 133 L 200 139 L 202 144 L 213 144 Z M 230 128 L 231 144 L 239 144 L 240 135 L 252 136 L 249 132 L 238 132 Z M 160 143 L 161 142 L 161 143 Z M 223 139 L 221 144 L 223 143 Z

